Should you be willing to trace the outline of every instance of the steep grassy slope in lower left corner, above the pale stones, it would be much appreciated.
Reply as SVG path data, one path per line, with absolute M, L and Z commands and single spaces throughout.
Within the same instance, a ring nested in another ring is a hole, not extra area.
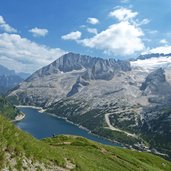
M 48 144 L 41 142 L 29 134 L 19 130 L 16 126 L 0 116 L 0 167 L 8 165 L 6 154 L 10 154 L 9 160 L 21 160 L 29 158 L 32 163 L 39 161 L 48 165 L 52 162 L 59 166 L 65 166 L 62 151 L 54 150 Z M 21 166 L 22 167 L 22 166 Z

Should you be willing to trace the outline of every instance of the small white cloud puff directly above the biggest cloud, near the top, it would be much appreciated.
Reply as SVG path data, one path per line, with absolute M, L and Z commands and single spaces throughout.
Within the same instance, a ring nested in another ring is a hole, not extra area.
M 133 12 L 131 9 L 120 7 L 114 9 L 109 13 L 109 17 L 115 17 L 119 21 L 128 21 L 135 18 L 138 15 L 138 12 Z

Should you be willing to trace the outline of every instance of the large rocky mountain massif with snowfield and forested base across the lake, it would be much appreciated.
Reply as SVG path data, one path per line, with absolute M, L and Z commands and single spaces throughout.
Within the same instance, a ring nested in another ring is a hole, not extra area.
M 170 54 L 116 61 L 68 53 L 8 99 L 43 107 L 113 141 L 171 155 L 170 70 Z

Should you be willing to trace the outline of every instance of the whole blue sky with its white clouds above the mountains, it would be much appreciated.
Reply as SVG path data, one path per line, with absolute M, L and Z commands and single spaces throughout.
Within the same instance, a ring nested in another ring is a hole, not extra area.
M 33 72 L 66 52 L 171 52 L 171 0 L 0 0 L 0 63 Z

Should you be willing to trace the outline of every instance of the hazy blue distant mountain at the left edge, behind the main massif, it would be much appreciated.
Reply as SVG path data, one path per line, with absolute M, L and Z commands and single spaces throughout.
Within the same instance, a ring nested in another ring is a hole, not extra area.
M 23 78 L 17 75 L 14 70 L 0 65 L 0 94 L 7 93 L 22 81 Z

